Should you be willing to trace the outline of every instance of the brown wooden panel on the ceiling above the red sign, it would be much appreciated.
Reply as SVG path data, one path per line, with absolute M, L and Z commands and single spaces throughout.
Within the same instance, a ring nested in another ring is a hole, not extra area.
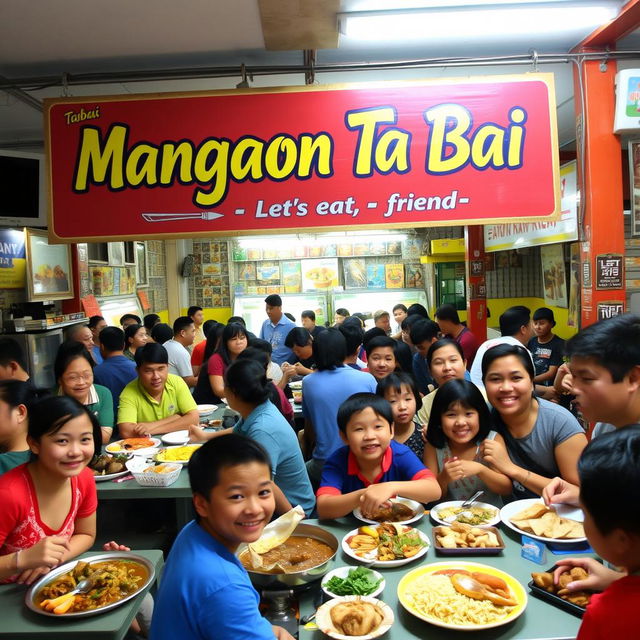
M 340 0 L 258 0 L 268 51 L 337 49 Z

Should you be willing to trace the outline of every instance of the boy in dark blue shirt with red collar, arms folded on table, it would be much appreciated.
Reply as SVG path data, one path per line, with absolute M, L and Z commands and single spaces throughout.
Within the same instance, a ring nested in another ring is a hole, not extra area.
M 340 405 L 337 421 L 347 446 L 324 464 L 316 494 L 319 518 L 340 518 L 356 507 L 372 515 L 396 495 L 419 502 L 440 497 L 433 473 L 393 440 L 393 415 L 384 398 L 355 393 Z

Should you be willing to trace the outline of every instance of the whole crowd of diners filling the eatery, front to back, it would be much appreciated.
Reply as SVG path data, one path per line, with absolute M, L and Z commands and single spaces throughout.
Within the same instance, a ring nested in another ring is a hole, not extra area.
M 501 337 L 479 344 L 452 305 L 432 320 L 419 304 L 398 304 L 376 311 L 369 329 L 347 309 L 321 327 L 311 310 L 296 325 L 278 295 L 265 305 L 256 334 L 241 317 L 203 321 L 195 306 L 171 327 L 155 314 L 127 314 L 121 327 L 94 316 L 61 345 L 53 394 L 34 387 L 17 343 L 0 338 L 0 581 L 30 584 L 95 544 L 87 464 L 103 444 L 188 429 L 205 443 L 189 464 L 197 516 L 169 555 L 154 638 L 185 629 L 194 638 L 290 638 L 261 618 L 234 556 L 274 514 L 300 505 L 307 517 L 357 507 L 366 515 L 398 494 L 429 505 L 480 489 L 496 506 L 580 502 L 590 543 L 617 570 L 560 562 L 588 571 L 570 590 L 604 590 L 579 638 L 631 637 L 639 317 L 591 325 L 565 343 L 550 309 L 531 317 L 514 306 L 500 316 Z M 304 424 L 294 420 L 292 381 L 301 381 Z M 222 398 L 235 426 L 205 431 L 197 405 Z M 577 417 L 598 423 L 592 442 Z M 242 617 L 219 617 L 231 609 Z

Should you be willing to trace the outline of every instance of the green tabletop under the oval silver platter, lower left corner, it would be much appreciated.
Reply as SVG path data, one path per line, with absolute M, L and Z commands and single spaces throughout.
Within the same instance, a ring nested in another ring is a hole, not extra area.
M 145 594 L 159 581 L 164 566 L 162 551 L 135 550 L 155 568 L 155 579 L 135 598 L 119 607 L 79 618 L 52 618 L 31 611 L 25 604 L 28 587 L 21 584 L 0 585 L 0 640 L 122 640 L 135 617 Z M 80 559 L 96 555 L 84 553 Z

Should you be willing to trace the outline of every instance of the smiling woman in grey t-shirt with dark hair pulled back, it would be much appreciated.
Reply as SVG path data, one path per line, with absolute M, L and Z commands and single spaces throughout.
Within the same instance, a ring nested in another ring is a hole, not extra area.
M 484 459 L 509 476 L 513 498 L 535 498 L 551 478 L 578 484 L 578 458 L 587 445 L 584 429 L 562 407 L 536 398 L 535 371 L 524 347 L 501 344 L 482 358 L 482 378 L 503 442 L 485 441 Z

